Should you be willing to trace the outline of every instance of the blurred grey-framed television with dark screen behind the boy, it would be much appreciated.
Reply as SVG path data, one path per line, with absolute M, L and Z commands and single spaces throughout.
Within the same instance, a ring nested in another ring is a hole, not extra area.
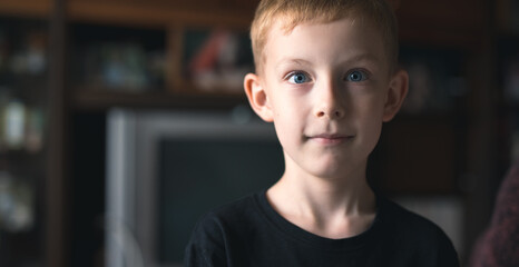
M 251 110 L 107 115 L 106 266 L 183 266 L 202 215 L 282 176 L 272 123 Z

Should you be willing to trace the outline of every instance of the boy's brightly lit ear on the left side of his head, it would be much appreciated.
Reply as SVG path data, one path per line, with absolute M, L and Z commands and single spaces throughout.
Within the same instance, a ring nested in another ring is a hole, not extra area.
M 260 77 L 254 73 L 246 75 L 243 81 L 243 87 L 254 112 L 256 112 L 263 120 L 272 122 L 274 120 L 272 107 L 268 102 L 268 96 L 265 88 L 260 81 Z

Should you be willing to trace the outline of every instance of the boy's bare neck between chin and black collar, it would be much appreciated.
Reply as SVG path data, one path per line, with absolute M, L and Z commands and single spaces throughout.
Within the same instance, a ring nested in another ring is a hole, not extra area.
M 267 197 L 283 217 L 311 233 L 347 237 L 364 231 L 375 214 L 365 165 L 347 176 L 321 178 L 287 168 Z

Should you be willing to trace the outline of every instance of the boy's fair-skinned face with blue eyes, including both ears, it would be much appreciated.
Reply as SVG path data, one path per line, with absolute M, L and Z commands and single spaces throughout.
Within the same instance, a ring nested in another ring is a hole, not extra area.
M 360 21 L 304 23 L 290 33 L 274 26 L 262 76 L 245 78 L 254 110 L 274 121 L 287 172 L 363 172 L 382 121 L 400 107 L 407 86 L 393 93 L 381 34 Z

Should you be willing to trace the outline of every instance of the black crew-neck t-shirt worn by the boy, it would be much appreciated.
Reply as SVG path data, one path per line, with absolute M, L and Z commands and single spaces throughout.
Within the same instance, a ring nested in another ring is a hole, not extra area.
M 378 198 L 366 231 L 330 239 L 284 219 L 260 192 L 204 216 L 186 248 L 185 265 L 450 267 L 459 261 L 437 225 L 385 198 Z

